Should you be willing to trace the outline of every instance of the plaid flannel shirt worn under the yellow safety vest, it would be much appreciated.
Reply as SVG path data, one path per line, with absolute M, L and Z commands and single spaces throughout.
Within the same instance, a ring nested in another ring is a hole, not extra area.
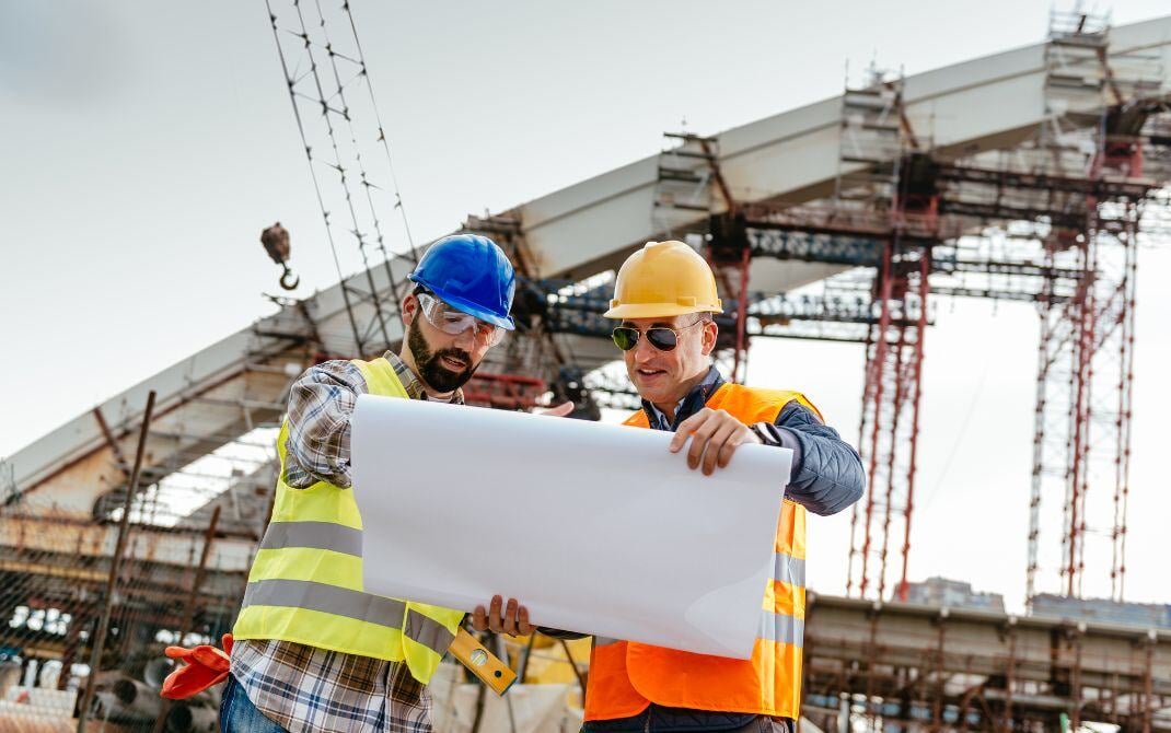
M 384 357 L 412 399 L 423 384 L 398 356 Z M 349 487 L 350 416 L 365 378 L 350 362 L 306 371 L 289 393 L 285 482 Z M 452 402 L 463 403 L 457 390 Z M 309 731 L 431 731 L 431 696 L 406 665 L 275 639 L 242 639 L 232 650 L 232 676 L 248 700 L 292 733 Z

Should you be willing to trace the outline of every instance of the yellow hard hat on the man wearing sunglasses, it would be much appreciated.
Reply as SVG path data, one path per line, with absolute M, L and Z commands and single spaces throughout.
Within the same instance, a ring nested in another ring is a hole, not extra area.
M 651 241 L 622 263 L 604 315 L 669 318 L 703 311 L 724 311 L 712 268 L 682 241 Z

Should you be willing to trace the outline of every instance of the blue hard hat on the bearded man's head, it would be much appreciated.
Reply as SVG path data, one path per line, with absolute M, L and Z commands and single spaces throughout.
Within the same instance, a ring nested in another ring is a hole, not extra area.
M 516 290 L 516 273 L 504 249 L 487 237 L 452 234 L 423 253 L 411 282 L 443 302 L 506 330 L 514 330 L 508 311 Z

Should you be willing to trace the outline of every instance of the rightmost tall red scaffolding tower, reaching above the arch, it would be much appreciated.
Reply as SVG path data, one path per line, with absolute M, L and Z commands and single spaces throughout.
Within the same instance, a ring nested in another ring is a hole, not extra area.
M 1111 56 L 1108 44 L 1108 19 L 1054 14 L 1046 53 L 1046 104 L 1054 122 L 1038 136 L 1034 172 L 1068 177 L 1080 171 L 1090 186 L 1066 186 L 1066 213 L 1081 225 L 1046 239 L 1047 265 L 1064 261 L 1081 276 L 1067 297 L 1053 297 L 1056 283 L 1047 282 L 1039 300 L 1029 603 L 1053 589 L 1054 575 L 1059 592 L 1081 596 L 1087 550 L 1097 537 L 1108 548 L 1093 564 L 1110 568 L 1110 597 L 1122 601 L 1125 591 L 1138 237 L 1143 211 L 1162 206 L 1155 181 L 1166 180 L 1157 132 L 1165 122 L 1162 103 L 1151 96 L 1158 91 L 1160 60 Z M 1062 112 L 1103 96 L 1111 104 L 1093 121 L 1091 145 L 1074 145 L 1060 124 Z M 1146 157 L 1153 166 L 1144 165 Z M 1135 187 L 1122 189 L 1119 181 Z M 1056 501 L 1060 526 L 1041 511 L 1042 502 Z M 1042 546 L 1042 534 L 1061 537 L 1059 556 L 1052 543 Z M 1095 584 L 1093 592 L 1104 590 Z

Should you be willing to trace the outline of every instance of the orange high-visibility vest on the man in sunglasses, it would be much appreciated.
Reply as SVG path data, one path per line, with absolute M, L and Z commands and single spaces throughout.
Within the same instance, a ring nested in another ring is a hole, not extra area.
M 707 400 L 746 425 L 772 423 L 797 400 L 821 417 L 800 392 L 724 384 Z M 625 425 L 650 427 L 639 410 Z M 586 720 L 629 718 L 651 703 L 667 707 L 754 713 L 796 719 L 801 704 L 804 633 L 806 511 L 783 500 L 776 527 L 773 577 L 765 589 L 751 659 L 697 655 L 650 644 L 596 637 L 590 655 Z

